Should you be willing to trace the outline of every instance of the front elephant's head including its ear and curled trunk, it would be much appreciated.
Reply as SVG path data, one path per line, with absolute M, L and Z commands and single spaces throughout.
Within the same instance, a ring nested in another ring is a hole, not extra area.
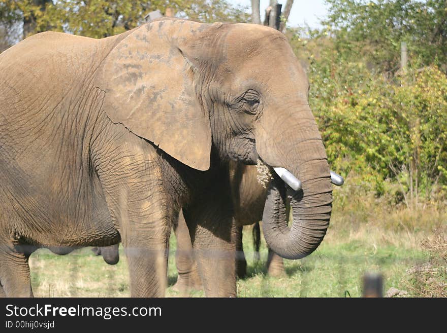
M 215 149 L 223 160 L 260 158 L 288 171 L 301 189 L 274 176 L 263 217 L 268 245 L 296 259 L 323 240 L 330 170 L 308 104 L 309 83 L 282 33 L 254 24 L 154 21 L 116 40 L 96 85 L 113 123 L 191 168 L 207 170 Z

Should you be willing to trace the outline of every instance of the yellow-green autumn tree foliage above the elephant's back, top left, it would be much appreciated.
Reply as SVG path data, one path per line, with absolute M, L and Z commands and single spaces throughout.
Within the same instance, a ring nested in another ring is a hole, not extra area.
M 179 16 L 202 22 L 246 22 L 243 7 L 223 0 L 0 0 L 0 24 L 8 31 L 19 26 L 22 35 L 46 30 L 103 38 L 144 23 L 151 11 L 173 8 Z

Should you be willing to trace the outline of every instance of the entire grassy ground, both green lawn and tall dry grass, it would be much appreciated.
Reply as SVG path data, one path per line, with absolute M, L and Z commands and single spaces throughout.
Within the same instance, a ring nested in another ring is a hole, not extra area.
M 331 225 L 323 243 L 298 261 L 285 260 L 286 276 L 266 275 L 267 248 L 262 239 L 261 260 L 253 260 L 251 227 L 244 229 L 248 276 L 238 280 L 239 297 L 361 297 L 366 272 L 383 276 L 390 288 L 409 297 L 447 297 L 447 209 L 441 206 L 409 210 L 361 196 L 345 187 L 335 193 Z M 350 193 L 350 195 L 349 195 Z M 166 295 L 178 297 L 171 236 Z M 29 259 L 31 283 L 37 297 L 128 297 L 126 257 L 107 265 L 89 248 L 66 256 L 41 249 Z M 203 297 L 193 291 L 191 297 Z

